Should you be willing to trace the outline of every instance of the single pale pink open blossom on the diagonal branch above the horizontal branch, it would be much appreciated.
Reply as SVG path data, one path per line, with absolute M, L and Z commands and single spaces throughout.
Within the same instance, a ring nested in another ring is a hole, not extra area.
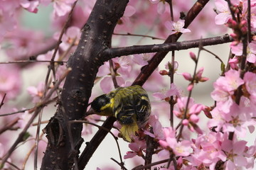
M 185 20 L 178 20 L 176 23 L 174 22 L 170 22 L 170 21 L 166 21 L 166 23 L 164 23 L 164 25 L 166 26 L 167 29 L 171 30 L 171 34 L 174 33 L 190 33 L 191 30 L 189 30 L 188 28 L 183 28 L 185 26 Z

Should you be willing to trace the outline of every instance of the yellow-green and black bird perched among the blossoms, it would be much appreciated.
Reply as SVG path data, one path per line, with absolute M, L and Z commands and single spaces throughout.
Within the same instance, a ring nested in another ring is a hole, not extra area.
M 144 128 L 149 120 L 151 104 L 142 86 L 118 87 L 108 94 L 97 96 L 86 115 L 114 116 L 122 126 L 119 134 L 127 142 Z

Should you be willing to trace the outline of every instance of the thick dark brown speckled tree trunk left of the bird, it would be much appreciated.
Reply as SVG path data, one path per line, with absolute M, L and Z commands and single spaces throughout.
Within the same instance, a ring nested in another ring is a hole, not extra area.
M 117 21 L 122 17 L 128 0 L 97 0 L 87 23 L 82 28 L 80 42 L 68 60 L 72 71 L 63 86 L 58 109 L 45 128 L 48 147 L 41 169 L 72 169 L 82 144 L 81 120 L 87 109 L 97 70 L 110 56 L 101 52 L 111 45 Z M 104 137 L 103 137 L 104 138 Z

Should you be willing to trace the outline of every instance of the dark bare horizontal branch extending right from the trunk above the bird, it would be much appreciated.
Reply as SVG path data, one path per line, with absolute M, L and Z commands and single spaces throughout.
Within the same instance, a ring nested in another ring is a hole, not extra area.
M 226 42 L 232 42 L 233 38 L 230 35 L 225 34 L 214 38 L 204 38 L 200 40 L 189 40 L 183 42 L 171 42 L 156 45 L 133 45 L 129 47 L 117 47 L 105 50 L 110 57 L 119 57 L 123 55 L 134 55 L 149 52 L 169 52 L 172 50 L 187 50 L 190 48 L 198 47 L 201 42 L 203 46 L 218 45 Z M 105 53 L 104 52 L 104 53 Z

